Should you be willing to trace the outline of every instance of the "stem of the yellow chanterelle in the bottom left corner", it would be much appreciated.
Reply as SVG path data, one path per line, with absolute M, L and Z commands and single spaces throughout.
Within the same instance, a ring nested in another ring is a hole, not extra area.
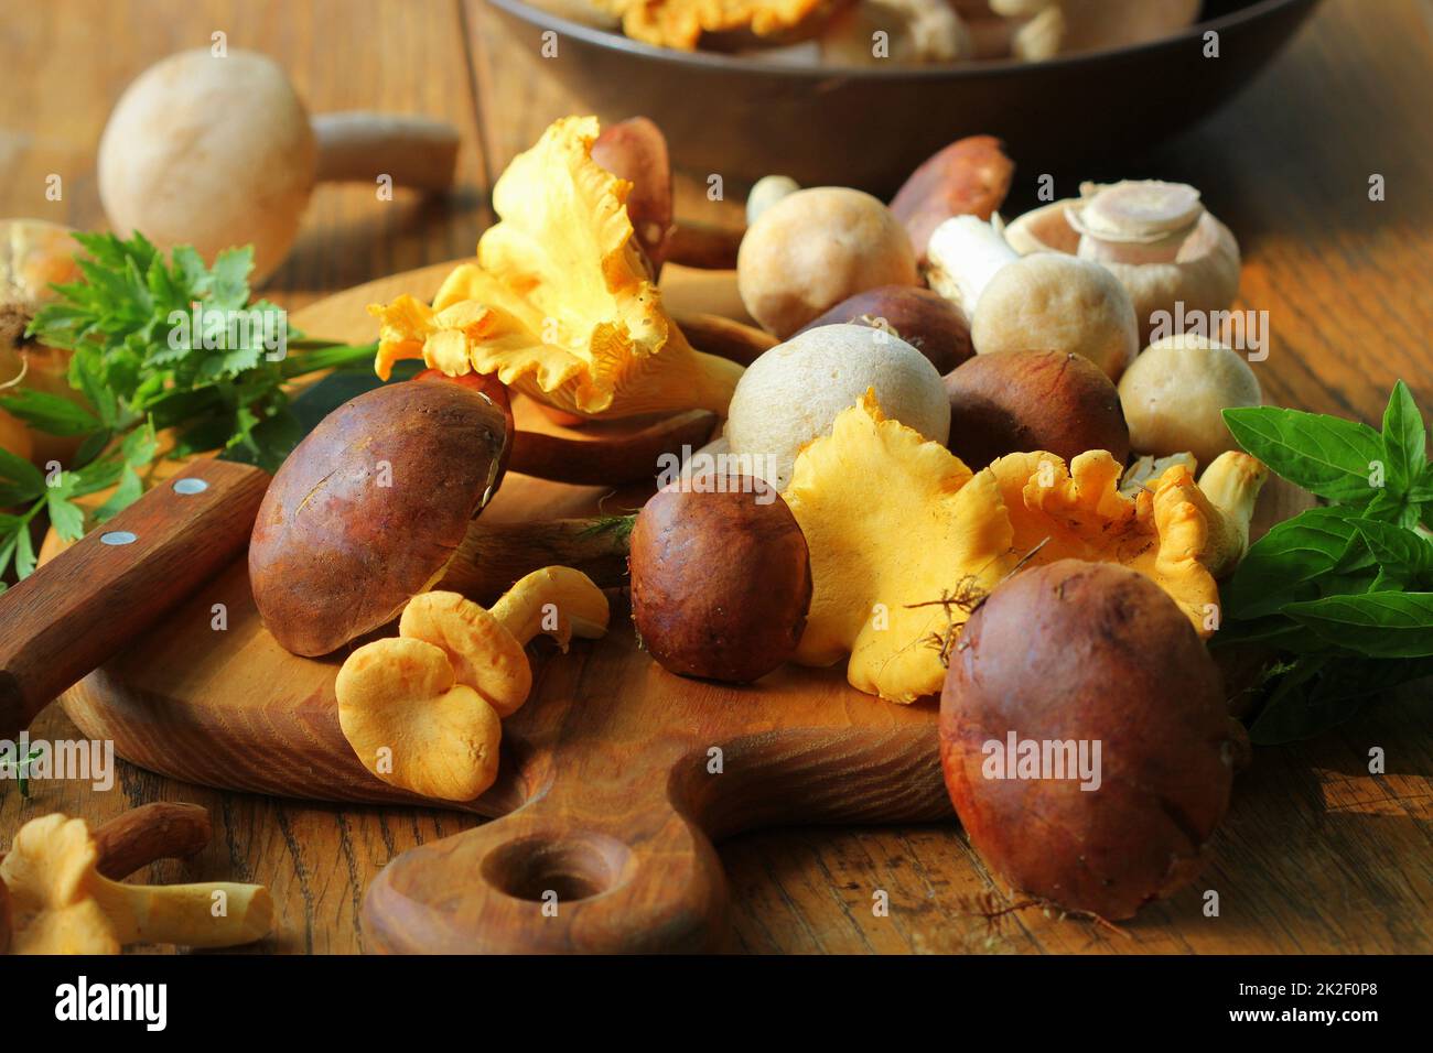
M 96 877 L 95 900 L 120 944 L 236 947 L 274 927 L 274 900 L 264 885 L 125 885 Z

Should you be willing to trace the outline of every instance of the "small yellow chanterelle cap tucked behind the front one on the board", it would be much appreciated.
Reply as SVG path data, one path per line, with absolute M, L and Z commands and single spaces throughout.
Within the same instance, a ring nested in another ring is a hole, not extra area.
M 398 635 L 447 655 L 454 679 L 497 712 L 512 716 L 533 686 L 523 645 L 492 612 L 456 592 L 426 592 L 403 609 Z

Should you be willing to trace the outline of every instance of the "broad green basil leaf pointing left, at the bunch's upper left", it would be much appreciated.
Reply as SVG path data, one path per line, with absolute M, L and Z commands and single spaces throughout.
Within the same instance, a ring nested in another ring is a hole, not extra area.
M 1367 424 L 1273 405 L 1225 410 L 1224 423 L 1250 454 L 1310 493 L 1343 504 L 1380 493 L 1374 480 L 1387 454 Z

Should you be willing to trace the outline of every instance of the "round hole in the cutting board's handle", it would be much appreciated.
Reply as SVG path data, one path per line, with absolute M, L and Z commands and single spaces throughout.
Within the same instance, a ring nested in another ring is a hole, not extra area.
M 590 900 L 625 878 L 632 850 L 613 837 L 592 831 L 560 835 L 533 834 L 499 845 L 483 858 L 483 877 L 516 900 L 557 903 Z

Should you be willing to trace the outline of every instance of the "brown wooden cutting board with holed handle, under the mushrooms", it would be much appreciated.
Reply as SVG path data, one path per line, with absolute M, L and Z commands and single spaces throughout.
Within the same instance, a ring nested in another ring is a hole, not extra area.
M 450 265 L 397 275 L 294 315 L 308 334 L 373 338 L 364 307 L 428 297 Z M 686 309 L 732 311 L 728 277 L 665 281 Z M 563 431 L 532 405 L 519 425 Z M 582 433 L 567 433 L 580 436 Z M 645 494 L 510 476 L 484 520 L 639 507 Z M 226 628 L 215 629 L 215 605 Z M 90 738 L 135 764 L 212 787 L 337 802 L 413 802 L 344 739 L 342 655 L 289 655 L 264 630 L 244 560 L 160 629 L 63 698 Z M 785 669 L 759 688 L 681 679 L 638 650 L 625 610 L 606 639 L 545 653 L 503 723 L 502 775 L 459 807 L 499 817 L 394 860 L 370 887 L 365 947 L 387 951 L 699 950 L 724 933 L 712 841 L 795 821 L 950 815 L 931 703 L 861 695 L 840 669 Z

